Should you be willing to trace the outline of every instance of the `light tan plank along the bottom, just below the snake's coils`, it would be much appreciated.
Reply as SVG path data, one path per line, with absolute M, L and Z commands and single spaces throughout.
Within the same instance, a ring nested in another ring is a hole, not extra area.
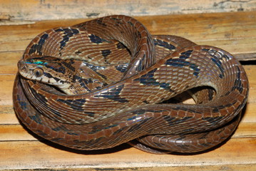
M 0 142 L 0 169 L 256 164 L 256 138 L 232 138 L 214 151 L 198 155 L 151 155 L 126 145 L 96 152 L 50 145 L 37 141 Z

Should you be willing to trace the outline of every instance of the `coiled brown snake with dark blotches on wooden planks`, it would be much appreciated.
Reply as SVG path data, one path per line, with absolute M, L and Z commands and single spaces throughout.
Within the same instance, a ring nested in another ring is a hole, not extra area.
M 214 149 L 237 128 L 249 90 L 227 51 L 151 35 L 123 15 L 40 33 L 18 68 L 13 101 L 21 123 L 76 150 L 126 142 L 155 154 Z M 184 93 L 195 103 L 177 101 Z

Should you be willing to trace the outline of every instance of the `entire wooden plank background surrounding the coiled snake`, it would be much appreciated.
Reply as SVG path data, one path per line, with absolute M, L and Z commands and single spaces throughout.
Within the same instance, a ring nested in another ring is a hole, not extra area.
M 256 1 L 191 2 L 0 0 L 0 170 L 256 170 Z M 184 36 L 240 59 L 250 95 L 230 140 L 197 155 L 152 155 L 128 145 L 81 152 L 54 145 L 20 125 L 12 86 L 16 63 L 31 39 L 48 28 L 108 14 L 135 16 L 152 34 Z

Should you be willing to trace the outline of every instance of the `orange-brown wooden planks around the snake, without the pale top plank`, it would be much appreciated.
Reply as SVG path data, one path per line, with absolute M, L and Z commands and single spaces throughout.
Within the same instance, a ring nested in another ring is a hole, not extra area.
M 237 17 L 239 16 L 239 17 Z M 256 54 L 256 12 L 136 17 L 153 34 L 175 34 L 224 48 L 240 60 Z M 256 66 L 247 61 L 250 96 L 235 134 L 221 147 L 196 155 L 152 155 L 121 145 L 111 150 L 81 152 L 54 145 L 28 132 L 12 105 L 16 63 L 32 38 L 48 28 L 84 19 L 35 21 L 0 26 L 0 170 L 256 170 Z M 145 168 L 146 167 L 146 168 Z

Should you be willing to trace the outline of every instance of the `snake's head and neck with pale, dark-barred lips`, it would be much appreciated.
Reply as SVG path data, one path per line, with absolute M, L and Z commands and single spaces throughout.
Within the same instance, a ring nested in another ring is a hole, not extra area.
M 95 71 L 80 65 L 71 59 L 63 60 L 51 56 L 21 59 L 18 62 L 19 73 L 24 78 L 56 86 L 66 94 L 87 93 L 106 85 Z

